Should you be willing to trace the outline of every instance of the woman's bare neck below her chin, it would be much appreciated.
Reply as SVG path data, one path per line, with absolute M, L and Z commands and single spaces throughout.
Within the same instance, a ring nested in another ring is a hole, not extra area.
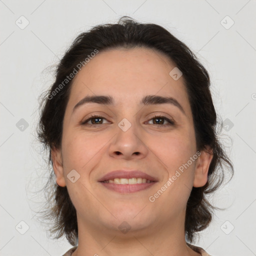
M 156 223 L 143 230 L 109 230 L 84 224 L 77 215 L 78 246 L 72 256 L 199 256 L 186 245 L 184 221 Z M 181 228 L 182 226 L 182 228 Z

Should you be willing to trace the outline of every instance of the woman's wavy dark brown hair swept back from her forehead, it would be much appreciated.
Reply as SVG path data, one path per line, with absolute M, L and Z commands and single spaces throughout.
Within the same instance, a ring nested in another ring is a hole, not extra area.
M 208 181 L 202 187 L 193 187 L 187 201 L 185 235 L 188 241 L 192 242 L 195 232 L 205 229 L 211 221 L 216 207 L 208 202 L 205 195 L 223 183 L 224 165 L 233 174 L 232 164 L 217 138 L 216 112 L 209 89 L 209 75 L 191 50 L 165 28 L 152 23 L 139 23 L 129 17 L 122 17 L 115 24 L 95 26 L 75 38 L 57 65 L 55 81 L 47 94 L 42 95 L 37 128 L 38 139 L 48 152 L 48 166 L 51 170 L 45 185 L 48 208 L 43 211 L 43 216 L 53 220 L 50 231 L 56 233 L 55 238 L 65 235 L 72 245 L 77 243 L 78 236 L 76 210 L 67 188 L 55 182 L 50 152 L 51 148 L 61 147 L 63 116 L 73 79 L 64 84 L 63 81 L 95 49 L 100 52 L 110 48 L 134 47 L 160 51 L 181 70 L 192 110 L 197 149 L 208 145 L 213 150 Z M 61 83 L 63 86 L 59 86 Z

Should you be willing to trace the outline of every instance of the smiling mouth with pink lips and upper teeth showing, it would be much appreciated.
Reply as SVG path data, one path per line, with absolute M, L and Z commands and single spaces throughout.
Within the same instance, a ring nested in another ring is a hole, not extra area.
M 98 181 L 110 190 L 121 193 L 130 193 L 151 187 L 157 182 L 157 179 L 137 170 L 116 170 L 107 173 Z

